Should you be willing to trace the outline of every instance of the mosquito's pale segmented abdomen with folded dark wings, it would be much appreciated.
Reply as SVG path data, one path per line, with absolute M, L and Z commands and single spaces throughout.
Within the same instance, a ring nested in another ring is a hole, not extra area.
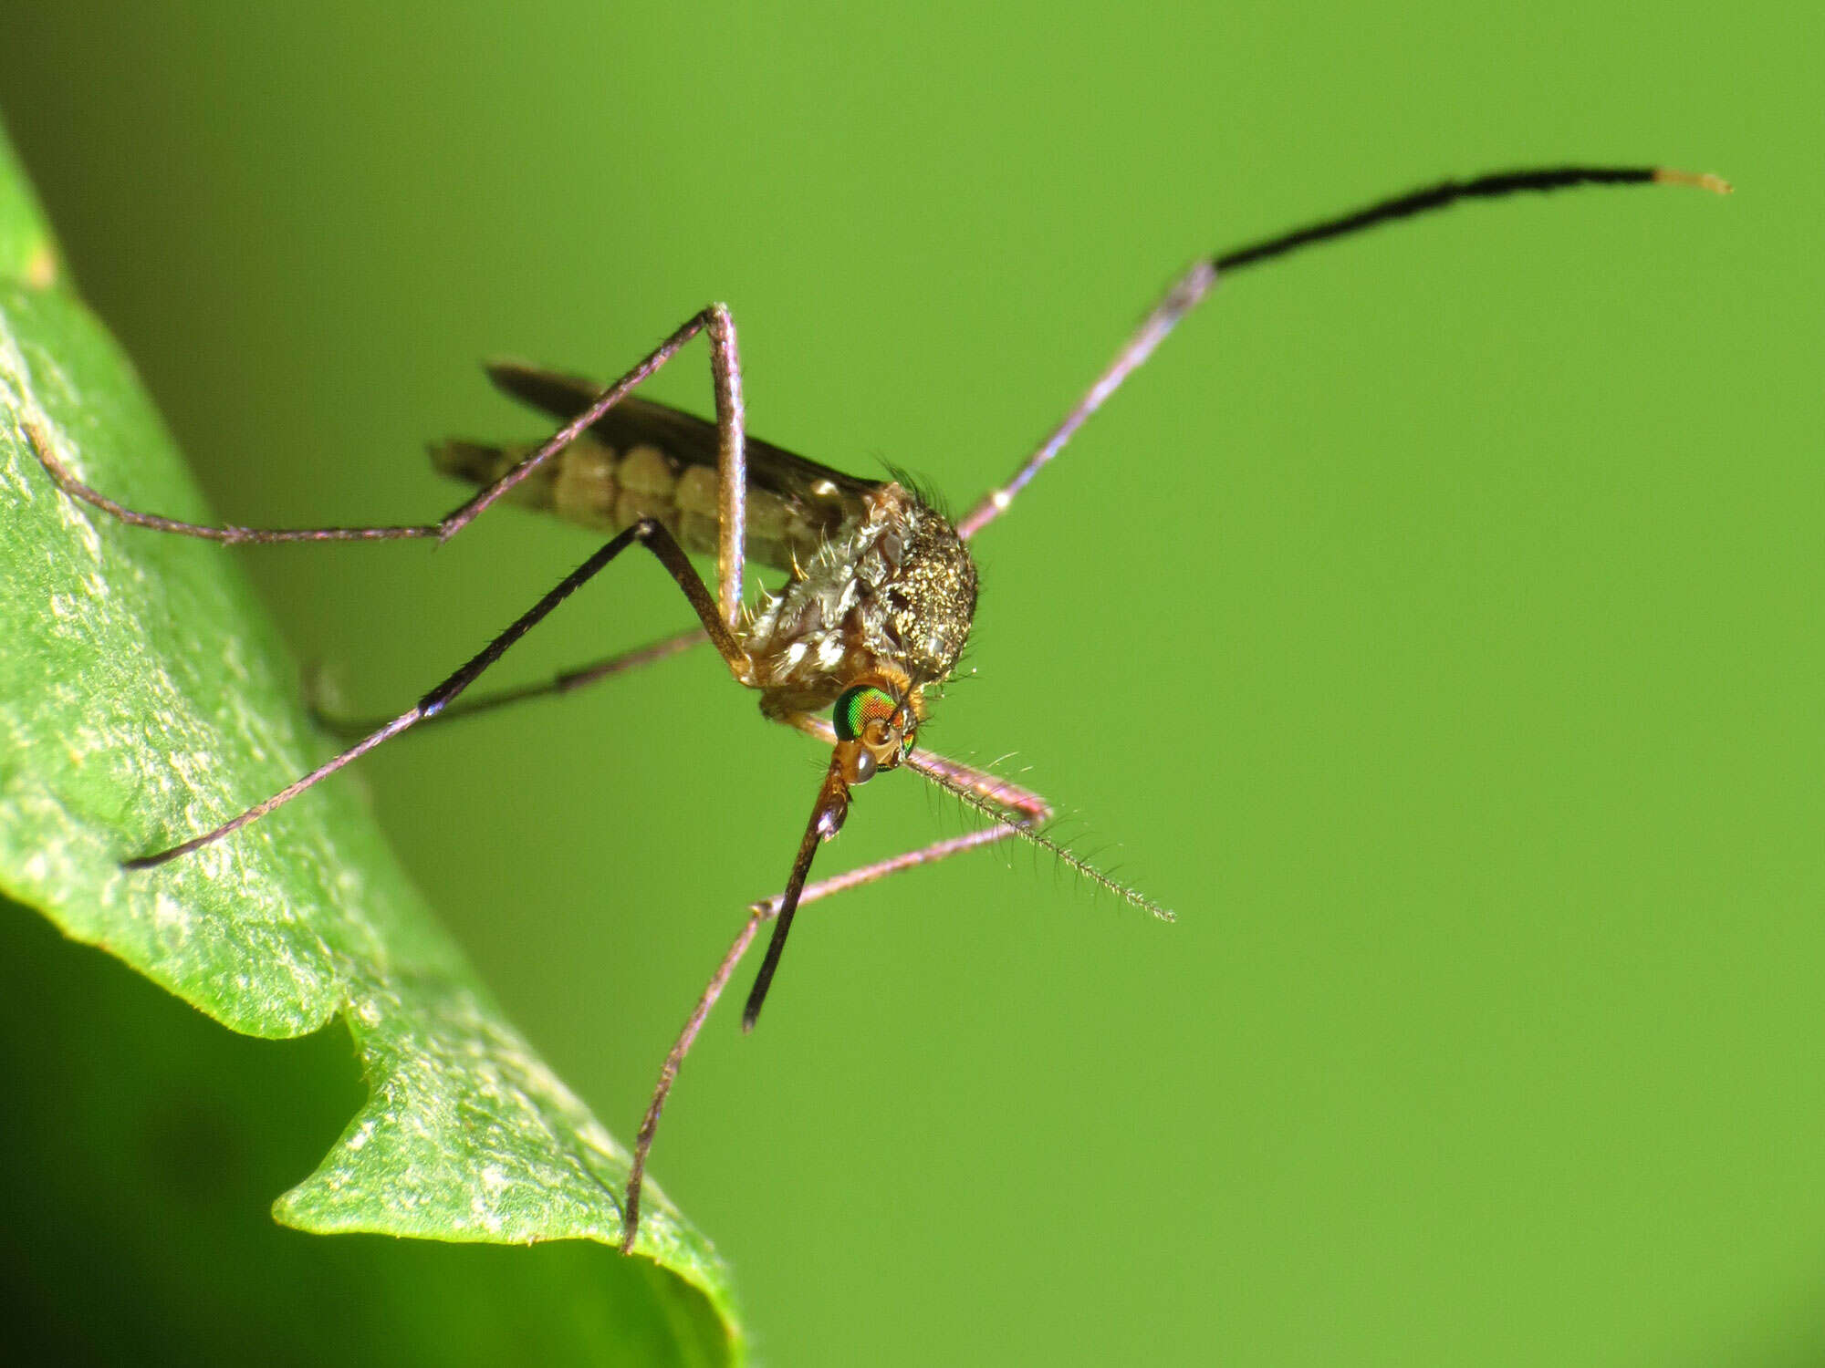
M 595 381 L 515 361 L 491 363 L 487 376 L 506 394 L 566 421 L 602 394 Z M 686 551 L 714 553 L 715 447 L 715 423 L 628 396 L 511 498 L 597 531 L 659 518 Z M 431 458 L 445 474 L 491 483 L 533 451 L 535 443 L 445 441 L 431 449 Z M 881 487 L 752 436 L 746 452 L 746 554 L 774 569 L 790 569 L 794 558 L 808 562 L 825 538 L 861 511 L 861 500 Z

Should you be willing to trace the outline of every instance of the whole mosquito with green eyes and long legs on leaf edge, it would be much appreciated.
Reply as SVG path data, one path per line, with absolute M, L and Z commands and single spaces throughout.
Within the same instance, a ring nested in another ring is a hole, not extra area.
M 1013 476 L 984 494 L 954 523 L 902 476 L 858 478 L 748 438 L 735 321 L 725 305 L 710 305 L 694 314 L 608 389 L 531 367 L 491 365 L 487 374 L 495 385 L 562 420 L 562 427 L 531 449 L 474 441 L 434 445 L 431 451 L 438 469 L 482 489 L 433 523 L 257 529 L 199 525 L 139 513 L 82 483 L 58 460 L 47 436 L 27 427 L 38 460 L 66 494 L 124 523 L 159 533 L 232 545 L 447 542 L 502 500 L 548 509 L 568 522 L 613 533 L 513 626 L 403 713 L 376 722 L 339 755 L 221 826 L 124 865 L 148 870 L 221 841 L 422 722 L 568 693 L 701 642 L 715 646 L 734 680 L 761 695 L 761 713 L 829 746 L 830 761 L 792 857 L 785 890 L 748 907 L 741 934 L 715 967 L 659 1071 L 620 1197 L 620 1248 L 631 1251 L 639 1235 L 646 1158 L 666 1096 L 710 1010 L 765 923 L 772 921 L 772 938 L 741 1012 L 743 1031 L 752 1031 L 759 1020 L 792 919 L 801 907 L 998 841 L 1029 841 L 1128 903 L 1172 921 L 1172 912 L 1159 903 L 1049 837 L 1044 828 L 1051 806 L 1044 797 L 987 770 L 922 750 L 918 731 L 929 697 L 951 677 L 969 638 L 976 607 L 976 565 L 969 542 L 1009 509 L 1179 321 L 1230 272 L 1383 223 L 1467 199 L 1652 182 L 1695 186 L 1714 193 L 1730 190 L 1717 177 L 1664 168 L 1555 166 L 1496 171 L 1467 181 L 1442 181 L 1234 252 L 1203 257 L 1172 283 L 1113 361 Z M 633 394 L 699 332 L 706 336 L 710 348 L 715 421 Z M 453 706 L 526 633 L 633 545 L 650 551 L 677 582 L 697 618 L 695 627 L 542 684 L 473 697 Z M 692 565 L 694 553 L 715 554 L 714 593 Z M 750 564 L 783 571 L 785 582 L 777 593 L 763 593 L 754 607 L 745 607 L 743 582 Z M 876 773 L 902 768 L 976 810 L 987 817 L 987 824 L 808 885 L 812 857 L 823 841 L 841 830 L 852 792 Z

